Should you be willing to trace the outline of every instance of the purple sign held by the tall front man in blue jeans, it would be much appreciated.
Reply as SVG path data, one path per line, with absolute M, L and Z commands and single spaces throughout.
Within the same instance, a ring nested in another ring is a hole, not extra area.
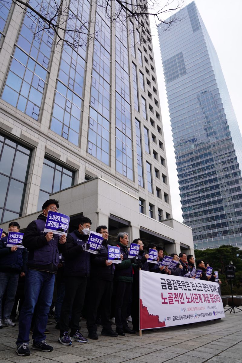
M 70 217 L 65 214 L 48 211 L 44 232 L 53 232 L 55 234 L 67 234 L 70 223 Z

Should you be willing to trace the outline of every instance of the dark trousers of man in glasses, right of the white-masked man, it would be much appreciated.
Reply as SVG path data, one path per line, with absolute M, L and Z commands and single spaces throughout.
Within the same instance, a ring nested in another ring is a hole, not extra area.
M 89 333 L 97 332 L 95 324 L 98 311 L 101 313 L 101 324 L 103 330 L 112 329 L 110 319 L 112 297 L 112 281 L 90 279 L 89 312 L 87 314 L 87 329 Z M 100 309 L 98 309 L 100 307 Z

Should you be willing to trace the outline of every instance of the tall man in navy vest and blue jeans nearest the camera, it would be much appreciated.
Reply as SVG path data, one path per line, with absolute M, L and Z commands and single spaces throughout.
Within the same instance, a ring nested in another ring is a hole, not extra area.
M 48 211 L 58 212 L 59 203 L 55 199 L 46 200 L 42 213 L 32 221 L 24 233 L 23 245 L 29 251 L 25 276 L 25 300 L 19 318 L 19 336 L 16 352 L 26 356 L 29 351 L 29 333 L 36 306 L 36 323 L 33 331 L 32 349 L 50 352 L 53 347 L 45 342 L 44 334 L 52 303 L 55 274 L 58 270 L 59 255 L 66 248 L 66 236 L 44 232 Z

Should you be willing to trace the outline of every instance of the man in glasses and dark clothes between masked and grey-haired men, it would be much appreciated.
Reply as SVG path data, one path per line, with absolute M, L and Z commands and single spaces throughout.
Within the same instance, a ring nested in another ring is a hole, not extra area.
M 108 262 L 108 230 L 107 226 L 101 225 L 96 229 L 104 237 L 98 254 L 91 256 L 89 312 L 87 315 L 88 337 L 98 339 L 96 318 L 100 306 L 101 335 L 117 337 L 118 333 L 112 330 L 112 323 L 109 321 L 111 314 L 111 298 L 115 264 Z

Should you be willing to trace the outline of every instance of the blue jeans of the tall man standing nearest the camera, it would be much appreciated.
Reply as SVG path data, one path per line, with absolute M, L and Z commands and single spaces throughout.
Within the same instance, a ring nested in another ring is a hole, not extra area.
M 45 340 L 44 334 L 50 305 L 53 298 L 55 274 L 45 271 L 27 269 L 25 275 L 24 303 L 19 317 L 19 336 L 16 344 L 28 343 L 31 321 L 36 306 L 36 323 L 33 331 L 33 342 Z

